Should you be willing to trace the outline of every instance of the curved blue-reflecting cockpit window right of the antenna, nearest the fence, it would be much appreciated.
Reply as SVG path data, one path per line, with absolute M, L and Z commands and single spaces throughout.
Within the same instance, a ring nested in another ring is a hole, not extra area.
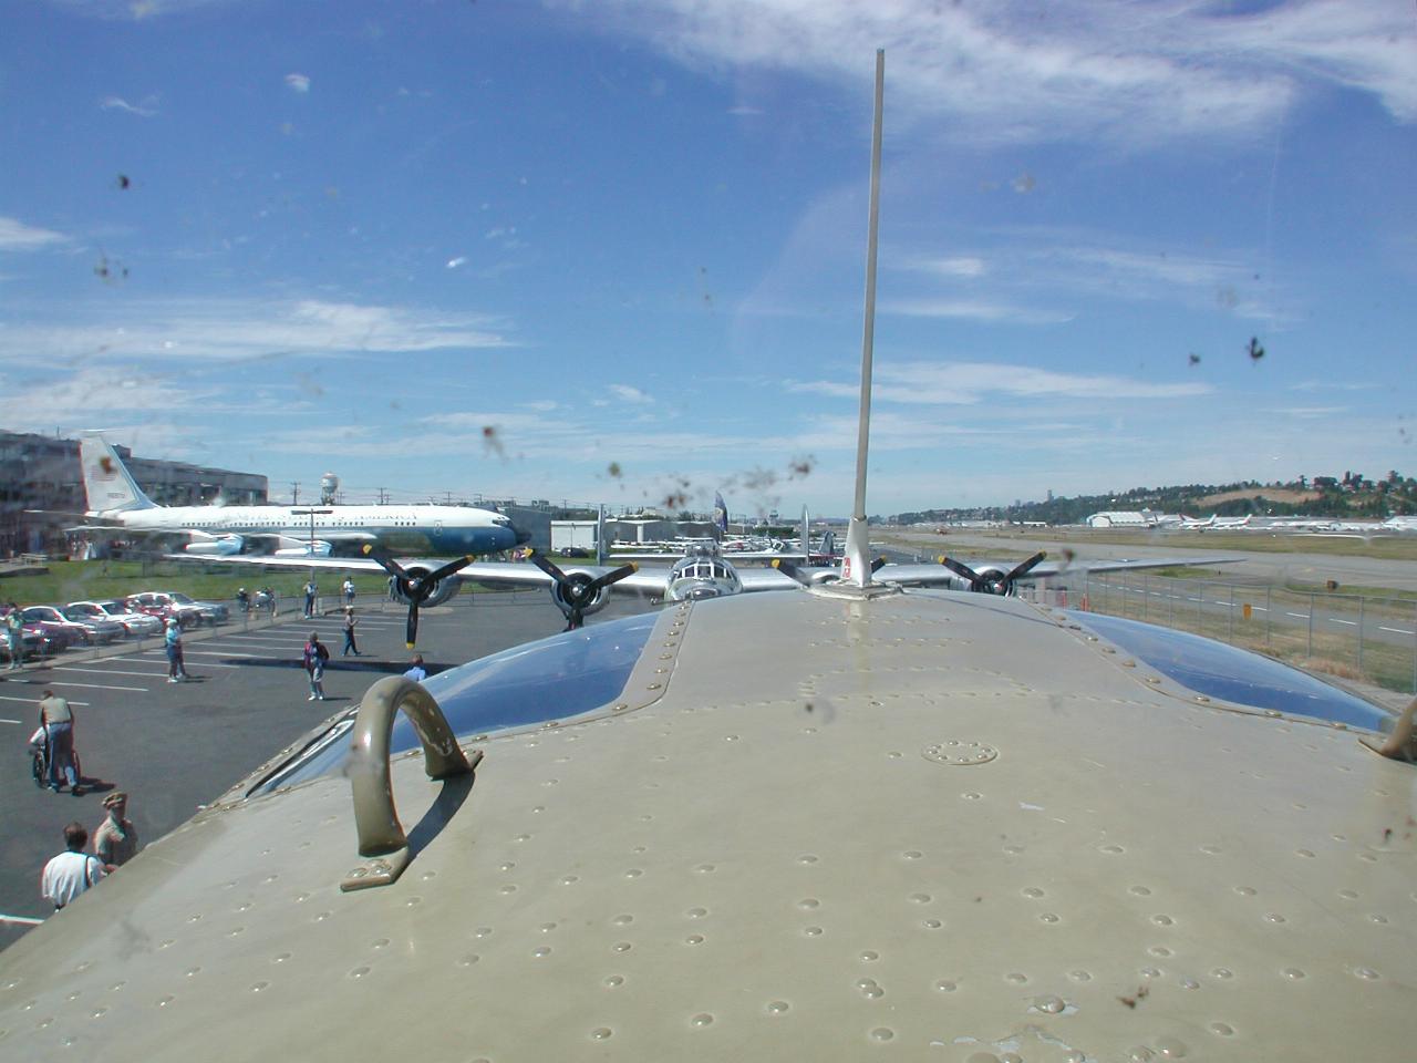
M 1076 611 L 1068 617 L 1207 697 L 1372 731 L 1391 729 L 1391 717 L 1382 709 L 1258 653 L 1118 617 Z

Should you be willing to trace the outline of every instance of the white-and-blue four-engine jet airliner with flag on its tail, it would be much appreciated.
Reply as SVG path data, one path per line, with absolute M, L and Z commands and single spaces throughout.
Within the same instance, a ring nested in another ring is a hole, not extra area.
M 492 554 L 527 540 L 510 517 L 466 506 L 159 506 L 102 438 L 79 441 L 79 462 L 88 497 L 84 530 L 186 537 L 184 554 L 258 554 L 265 561 L 353 554 L 364 546 Z

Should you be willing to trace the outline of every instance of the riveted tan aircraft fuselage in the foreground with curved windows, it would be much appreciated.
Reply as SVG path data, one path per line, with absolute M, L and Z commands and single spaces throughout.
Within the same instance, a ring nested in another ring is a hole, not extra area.
M 836 580 L 376 683 L 0 954 L 6 1056 L 1408 1059 L 1411 710 L 883 583 L 864 465 Z

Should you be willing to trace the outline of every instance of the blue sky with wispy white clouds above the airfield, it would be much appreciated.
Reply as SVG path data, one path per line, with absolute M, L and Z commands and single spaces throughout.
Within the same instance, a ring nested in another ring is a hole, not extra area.
M 35 0 L 0 427 L 349 500 L 1417 473 L 1410 6 Z M 1265 349 L 1254 361 L 1251 336 Z

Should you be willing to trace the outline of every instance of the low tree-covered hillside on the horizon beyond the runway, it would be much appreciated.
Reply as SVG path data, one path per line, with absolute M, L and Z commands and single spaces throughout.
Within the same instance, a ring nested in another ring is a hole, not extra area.
M 1316 492 L 1304 502 L 1280 500 L 1272 492 Z M 1203 503 L 1213 495 L 1243 492 L 1219 503 Z M 1267 493 L 1271 492 L 1271 493 Z M 1047 524 L 1081 524 L 1093 513 L 1108 510 L 1142 510 L 1156 513 L 1186 513 L 1187 516 L 1223 517 L 1255 516 L 1319 516 L 1383 520 L 1390 516 L 1417 513 L 1417 479 L 1403 476 L 1396 469 L 1382 479 L 1369 479 L 1360 472 L 1342 476 L 1299 476 L 1289 483 L 1187 483 L 1175 488 L 1132 488 L 1121 493 L 1080 495 L 1071 499 L 1054 497 L 1047 502 L 1019 502 L 1012 506 L 976 506 L 971 509 L 925 509 L 871 517 L 886 524 L 928 524 L 956 520 L 1003 520 L 1012 523 L 1043 522 Z

